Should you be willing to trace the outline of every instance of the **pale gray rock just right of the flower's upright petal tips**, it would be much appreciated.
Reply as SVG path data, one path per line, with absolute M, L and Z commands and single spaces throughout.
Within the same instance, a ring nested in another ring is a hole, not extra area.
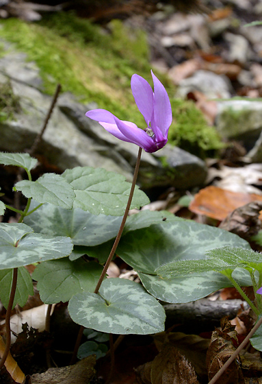
M 204 93 L 210 99 L 227 99 L 231 96 L 231 83 L 227 77 L 200 70 L 180 82 L 177 96 L 184 98 L 187 93 L 194 91 Z

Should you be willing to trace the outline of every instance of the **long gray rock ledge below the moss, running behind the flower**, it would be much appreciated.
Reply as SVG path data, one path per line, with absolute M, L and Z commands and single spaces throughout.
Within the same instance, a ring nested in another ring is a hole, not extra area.
M 10 47 L 9 47 L 10 48 Z M 10 49 L 0 58 L 0 83 L 10 81 L 12 92 L 20 97 L 21 110 L 14 119 L 0 122 L 0 149 L 23 152 L 34 143 L 51 105 L 42 93 L 42 80 L 35 63 Z M 137 146 L 122 142 L 99 123 L 85 116 L 88 109 L 70 93 L 60 95 L 37 153 L 64 170 L 76 166 L 103 167 L 133 178 Z M 145 189 L 174 186 L 187 189 L 201 185 L 207 175 L 205 163 L 176 147 L 166 146 L 156 154 L 143 152 L 138 184 Z

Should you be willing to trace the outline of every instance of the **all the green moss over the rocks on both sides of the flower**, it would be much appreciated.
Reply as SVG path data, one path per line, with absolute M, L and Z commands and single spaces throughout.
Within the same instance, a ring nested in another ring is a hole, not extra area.
M 101 29 L 74 14 L 60 12 L 40 23 L 1 21 L 1 36 L 38 64 L 46 93 L 53 94 L 60 82 L 63 91 L 74 93 L 80 101 L 95 101 L 99 108 L 144 127 L 130 89 L 133 73 L 152 84 L 149 49 L 141 30 L 129 29 L 116 20 L 108 29 Z M 193 104 L 174 99 L 170 80 L 156 74 L 172 104 L 170 143 L 201 157 L 221 147 L 218 134 L 207 126 L 201 112 Z

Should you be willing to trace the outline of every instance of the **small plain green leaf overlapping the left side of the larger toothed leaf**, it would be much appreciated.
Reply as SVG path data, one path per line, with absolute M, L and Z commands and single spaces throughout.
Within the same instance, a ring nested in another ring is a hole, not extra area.
M 75 192 L 60 175 L 44 173 L 36 181 L 22 180 L 15 184 L 14 191 L 21 191 L 25 197 L 32 197 L 38 203 L 51 203 L 72 209 Z

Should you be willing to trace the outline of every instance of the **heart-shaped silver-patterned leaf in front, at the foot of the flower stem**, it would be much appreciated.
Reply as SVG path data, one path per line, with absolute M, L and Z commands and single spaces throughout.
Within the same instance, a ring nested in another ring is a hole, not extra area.
M 103 281 L 99 294 L 77 293 L 68 311 L 77 324 L 120 335 L 161 332 L 166 318 L 161 304 L 141 285 L 122 278 Z

